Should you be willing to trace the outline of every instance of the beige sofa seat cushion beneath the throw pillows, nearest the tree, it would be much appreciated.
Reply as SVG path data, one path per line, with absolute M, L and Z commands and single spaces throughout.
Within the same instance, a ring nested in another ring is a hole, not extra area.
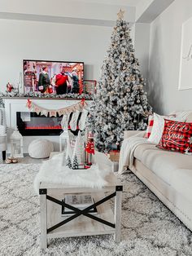
M 137 146 L 134 157 L 154 172 L 165 183 L 171 184 L 171 177 L 177 169 L 192 170 L 192 156 L 186 156 L 179 152 L 168 152 L 156 148 L 153 144 Z

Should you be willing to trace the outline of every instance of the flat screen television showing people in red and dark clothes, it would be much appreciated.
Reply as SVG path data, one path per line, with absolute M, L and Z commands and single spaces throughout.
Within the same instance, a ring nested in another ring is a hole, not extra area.
M 84 63 L 23 60 L 24 93 L 63 95 L 83 92 Z

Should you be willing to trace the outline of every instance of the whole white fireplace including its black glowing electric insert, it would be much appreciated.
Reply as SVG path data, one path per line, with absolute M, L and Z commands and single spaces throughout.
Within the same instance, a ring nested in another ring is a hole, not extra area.
M 28 145 L 34 139 L 41 138 L 42 136 L 44 137 L 48 136 L 46 139 L 49 139 L 54 144 L 55 151 L 59 151 L 59 135 L 62 132 L 60 123 L 61 123 L 62 117 L 45 117 L 45 116 L 40 116 L 40 115 L 37 115 L 36 113 L 30 112 L 26 107 L 26 103 L 27 103 L 26 97 L 24 98 L 9 97 L 7 99 L 4 99 L 4 101 L 5 101 L 8 139 L 10 138 L 15 127 L 19 126 L 20 133 L 24 136 L 24 153 L 28 153 Z M 73 104 L 76 104 L 78 101 L 79 99 L 76 100 L 76 99 L 33 98 L 33 103 L 45 109 L 59 109 L 59 108 L 65 108 L 65 107 L 68 108 L 68 106 L 72 106 Z M 92 101 L 86 101 L 86 103 L 89 106 L 89 104 L 91 104 Z M 33 117 L 36 117 L 36 118 L 33 120 Z M 70 118 L 69 118 L 69 121 L 70 121 Z M 27 127 L 28 129 L 26 129 Z M 77 131 L 78 130 L 76 130 L 73 133 L 76 135 Z M 7 152 L 8 153 L 11 152 L 10 143 L 7 144 Z

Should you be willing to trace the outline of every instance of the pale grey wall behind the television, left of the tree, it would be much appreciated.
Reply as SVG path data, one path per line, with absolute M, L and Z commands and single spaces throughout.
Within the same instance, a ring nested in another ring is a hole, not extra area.
M 85 62 L 85 79 L 98 80 L 112 28 L 0 20 L 1 89 L 19 82 L 22 60 Z

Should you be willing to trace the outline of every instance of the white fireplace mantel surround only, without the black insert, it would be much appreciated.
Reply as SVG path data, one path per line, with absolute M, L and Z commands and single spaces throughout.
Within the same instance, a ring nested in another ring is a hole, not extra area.
M 7 151 L 10 152 L 9 147 L 9 138 L 11 133 L 16 127 L 16 113 L 17 112 L 30 112 L 27 104 L 27 98 L 6 98 L 4 99 L 5 103 L 5 113 L 6 113 L 6 123 L 7 123 L 7 137 L 8 137 L 8 148 Z M 41 108 L 46 109 L 59 109 L 69 107 L 72 104 L 76 104 L 81 99 L 31 99 L 34 104 L 37 104 Z M 86 101 L 89 105 L 91 103 L 90 100 Z M 59 136 L 24 136 L 24 153 L 28 152 L 28 145 L 34 139 L 49 139 L 52 143 L 54 143 L 55 151 L 59 151 Z

